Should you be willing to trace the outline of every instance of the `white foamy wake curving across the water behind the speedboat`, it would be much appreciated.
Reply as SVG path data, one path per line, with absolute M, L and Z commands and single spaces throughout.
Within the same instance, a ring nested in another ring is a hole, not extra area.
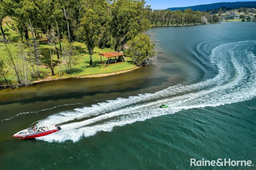
M 209 80 L 193 85 L 176 85 L 154 94 L 134 96 L 134 98 L 117 99 L 113 102 L 130 101 L 126 107 L 110 113 L 96 115 L 96 117 L 74 123 L 62 125 L 62 130 L 39 139 L 48 142 L 78 141 L 81 137 L 92 136 L 98 131 L 111 131 L 115 126 L 124 126 L 137 121 L 144 121 L 152 117 L 174 114 L 181 110 L 216 107 L 224 104 L 250 100 L 256 97 L 256 61 L 255 55 L 244 48 L 256 44 L 256 41 L 243 41 L 223 44 L 212 50 L 211 64 L 217 66 L 218 74 Z M 225 54 L 225 55 L 224 55 Z M 243 56 L 243 57 L 241 57 Z M 198 90 L 195 92 L 194 90 Z M 182 94 L 184 93 L 184 94 Z M 178 94 L 173 96 L 174 94 Z M 163 97 L 167 97 L 162 99 Z M 154 100 L 154 101 L 152 101 Z M 170 107 L 160 109 L 160 103 L 167 103 Z M 122 102 L 121 102 L 122 103 Z M 109 103 L 101 103 L 104 107 Z M 93 106 L 96 109 L 98 106 Z M 93 108 L 92 107 L 92 108 Z M 111 111 L 103 108 L 101 111 Z M 80 110 L 83 117 L 86 113 Z M 75 115 L 75 114 L 74 114 Z M 67 115 L 68 117 L 68 115 Z M 76 116 L 74 116 L 76 118 Z M 50 118 L 50 117 L 49 117 Z M 69 117 L 70 118 L 70 117 Z

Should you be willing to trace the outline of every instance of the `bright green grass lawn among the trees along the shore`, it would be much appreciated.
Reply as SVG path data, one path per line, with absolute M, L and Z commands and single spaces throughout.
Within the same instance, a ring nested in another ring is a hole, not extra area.
M 20 40 L 19 33 L 16 33 L 12 31 L 8 26 L 3 26 L 4 29 L 9 29 L 9 31 L 5 32 L 6 38 L 11 40 L 13 43 L 8 44 L 8 47 L 11 49 L 11 51 L 16 50 L 16 46 L 18 41 Z M 38 32 L 40 33 L 40 32 Z M 38 35 L 40 36 L 40 34 Z M 42 34 L 41 34 L 42 36 Z M 50 51 L 49 51 L 49 45 L 46 41 L 38 40 L 38 48 L 40 50 L 40 61 L 42 65 L 40 65 L 40 70 L 42 71 L 43 78 L 51 77 L 51 57 L 50 57 Z M 103 64 L 100 64 L 100 55 L 99 53 L 102 52 L 109 52 L 114 51 L 110 48 L 94 48 L 94 54 L 92 56 L 92 65 L 90 66 L 90 55 L 88 54 L 86 46 L 84 43 L 81 42 L 74 42 L 74 45 L 76 47 L 76 55 L 79 56 L 79 63 L 74 67 L 72 70 L 72 73 L 69 75 L 61 75 L 58 74 L 53 76 L 52 78 L 70 78 L 70 77 L 79 77 L 79 76 L 85 76 L 85 75 L 94 75 L 94 74 L 100 74 L 100 73 L 111 73 L 121 70 L 128 70 L 135 68 L 136 66 L 133 64 L 133 61 L 130 57 L 126 57 L 126 62 L 115 64 L 115 65 L 109 65 L 105 66 Z M 58 44 L 59 46 L 59 44 Z M 0 57 L 5 57 L 4 53 L 4 44 L 0 43 Z M 28 48 L 27 48 L 28 50 Z M 105 57 L 102 57 L 102 60 L 107 60 Z M 53 65 L 54 65 L 54 73 L 58 73 L 58 62 L 57 55 L 54 52 L 53 56 Z M 15 79 L 14 72 L 12 70 L 9 71 L 8 79 L 12 80 Z

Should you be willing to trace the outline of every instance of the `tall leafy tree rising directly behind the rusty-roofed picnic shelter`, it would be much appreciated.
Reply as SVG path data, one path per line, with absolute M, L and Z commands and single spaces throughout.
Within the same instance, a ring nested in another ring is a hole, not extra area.
M 144 5 L 144 0 L 117 0 L 111 5 L 110 30 L 115 39 L 115 50 L 151 27 L 149 20 L 144 18 Z

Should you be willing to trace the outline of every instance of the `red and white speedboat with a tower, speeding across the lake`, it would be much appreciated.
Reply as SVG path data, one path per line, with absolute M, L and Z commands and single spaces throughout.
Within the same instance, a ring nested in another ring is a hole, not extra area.
M 54 132 L 58 132 L 61 128 L 56 125 L 44 125 L 44 121 L 36 121 L 32 123 L 28 129 L 24 129 L 14 134 L 13 137 L 18 137 L 22 139 L 42 137 L 45 135 L 49 135 Z

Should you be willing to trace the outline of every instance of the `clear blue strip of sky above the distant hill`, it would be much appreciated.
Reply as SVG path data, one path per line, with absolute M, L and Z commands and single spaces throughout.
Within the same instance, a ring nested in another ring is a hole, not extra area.
M 186 7 L 202 4 L 212 4 L 217 2 L 242 2 L 255 0 L 145 0 L 146 5 L 151 5 L 151 9 L 167 9 L 172 7 Z

